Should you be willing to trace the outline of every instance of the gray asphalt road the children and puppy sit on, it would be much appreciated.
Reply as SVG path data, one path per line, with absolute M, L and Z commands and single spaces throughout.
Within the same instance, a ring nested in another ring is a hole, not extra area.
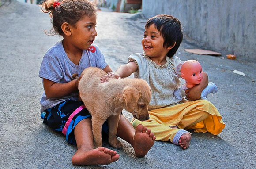
M 117 149 L 117 162 L 73 166 L 76 146 L 42 124 L 39 112 L 43 91 L 39 66 L 46 50 L 60 39 L 42 31 L 51 28 L 49 19 L 36 5 L 13 1 L 0 7 L 0 169 L 256 168 L 256 62 L 241 56 L 228 60 L 225 52 L 221 57 L 189 54 L 185 48 L 199 47 L 188 39 L 177 56 L 200 61 L 209 81 L 218 86 L 218 93 L 207 98 L 223 116 L 223 132 L 218 136 L 192 133 L 187 150 L 158 141 L 144 158 L 136 158 L 132 147 L 121 140 L 124 148 Z M 126 63 L 130 54 L 142 51 L 144 24 L 139 14 L 99 12 L 95 43 L 113 70 Z M 127 112 L 124 115 L 132 118 Z M 106 142 L 103 146 L 111 148 Z

